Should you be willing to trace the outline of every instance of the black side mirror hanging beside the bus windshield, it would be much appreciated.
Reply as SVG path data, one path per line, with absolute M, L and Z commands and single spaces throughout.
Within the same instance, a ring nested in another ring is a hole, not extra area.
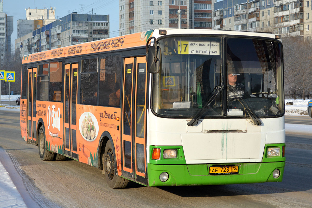
M 157 74 L 160 69 L 161 52 L 160 47 L 157 46 L 155 55 L 155 46 L 149 46 L 147 53 L 147 71 L 152 74 Z

